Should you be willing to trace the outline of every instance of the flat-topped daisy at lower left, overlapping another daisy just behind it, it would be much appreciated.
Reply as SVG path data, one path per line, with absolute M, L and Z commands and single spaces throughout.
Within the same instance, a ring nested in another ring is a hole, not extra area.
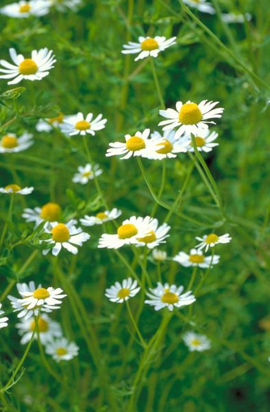
M 25 306 L 27 310 L 40 308 L 40 306 L 48 305 L 50 308 L 54 308 L 56 305 L 62 304 L 62 299 L 66 295 L 62 294 L 63 290 L 61 288 L 52 288 L 51 286 L 47 289 L 39 287 L 33 291 L 21 291 L 20 295 L 23 297 L 21 304 Z M 58 308 L 56 306 L 56 308 Z

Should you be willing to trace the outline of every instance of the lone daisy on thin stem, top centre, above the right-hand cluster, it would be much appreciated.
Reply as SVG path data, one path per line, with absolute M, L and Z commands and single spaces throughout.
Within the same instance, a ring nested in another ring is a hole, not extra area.
M 139 36 L 138 42 L 134 43 L 132 41 L 128 42 L 128 45 L 123 45 L 124 50 L 122 50 L 123 54 L 134 54 L 139 53 L 136 57 L 135 61 L 140 60 L 141 58 L 146 57 L 158 57 L 159 52 L 163 52 L 164 49 L 175 45 L 176 37 L 171 37 L 166 40 L 164 36 L 155 36 L 153 37 L 143 37 Z

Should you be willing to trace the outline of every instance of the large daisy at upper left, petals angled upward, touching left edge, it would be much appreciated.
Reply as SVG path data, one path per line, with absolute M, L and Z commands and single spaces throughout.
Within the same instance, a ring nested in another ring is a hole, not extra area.
M 48 50 L 47 47 L 40 50 L 33 50 L 31 58 L 24 58 L 22 54 L 17 54 L 15 49 L 10 49 L 10 57 L 15 64 L 10 64 L 6 60 L 0 60 L 0 65 L 5 67 L 0 68 L 1 79 L 11 79 L 8 84 L 17 84 L 21 80 L 41 80 L 48 76 L 49 70 L 54 66 L 56 62 L 55 56 L 52 50 Z

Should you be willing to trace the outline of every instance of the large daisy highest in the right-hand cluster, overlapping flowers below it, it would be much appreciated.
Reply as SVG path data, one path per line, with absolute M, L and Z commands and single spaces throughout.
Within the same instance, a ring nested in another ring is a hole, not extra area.
M 198 128 L 208 128 L 208 123 L 215 124 L 212 121 L 208 121 L 208 119 L 221 117 L 224 108 L 213 108 L 218 103 L 208 102 L 207 100 L 202 100 L 199 104 L 193 103 L 190 100 L 184 104 L 177 102 L 176 111 L 173 108 L 160 110 L 160 115 L 167 117 L 169 120 L 163 120 L 158 126 L 164 126 L 162 130 L 166 131 L 166 133 L 180 126 L 175 132 L 175 139 L 178 139 L 183 133 L 193 133 L 193 135 L 197 136 Z

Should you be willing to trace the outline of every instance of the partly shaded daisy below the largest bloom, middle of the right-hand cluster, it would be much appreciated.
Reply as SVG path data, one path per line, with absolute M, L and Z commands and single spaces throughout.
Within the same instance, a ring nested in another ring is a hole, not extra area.
M 158 150 L 149 159 L 162 160 L 168 157 L 169 159 L 176 157 L 176 153 L 187 152 L 188 141 L 175 139 L 175 132 L 160 135 L 158 132 L 151 133 L 153 141 L 158 140 Z

